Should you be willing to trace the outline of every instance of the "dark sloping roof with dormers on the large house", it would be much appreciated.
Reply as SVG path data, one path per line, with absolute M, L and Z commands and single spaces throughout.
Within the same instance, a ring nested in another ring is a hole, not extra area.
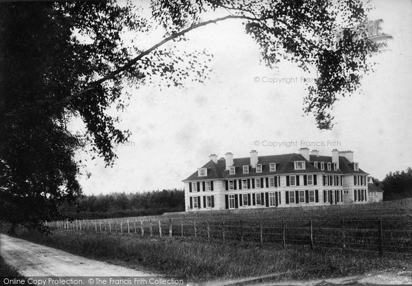
M 306 169 L 295 170 L 295 161 L 306 161 Z M 315 168 L 313 162 L 325 162 L 332 163 L 332 156 L 315 156 L 310 155 L 310 161 L 305 160 L 304 156 L 301 154 L 279 154 L 271 156 L 258 156 L 258 164 L 262 165 L 262 172 L 256 173 L 255 168 L 251 168 L 250 157 L 244 158 L 233 158 L 233 167 L 235 167 L 236 174 L 230 175 L 229 170 L 226 170 L 226 160 L 225 158 L 218 159 L 218 163 L 214 163 L 213 160 L 209 160 L 201 168 L 207 169 L 207 176 L 198 176 L 198 172 L 195 171 L 191 176 L 183 180 L 214 180 L 214 179 L 225 179 L 225 178 L 250 178 L 255 176 L 273 176 L 279 174 L 307 174 L 307 173 L 319 173 L 319 174 L 364 174 L 365 171 L 358 169 L 354 171 L 354 163 L 350 163 L 347 158 L 339 156 L 339 169 L 337 171 L 333 170 L 333 167 L 328 171 L 327 165 L 325 165 L 325 170 Z M 269 164 L 276 163 L 276 171 L 269 171 Z M 249 166 L 249 174 L 243 174 L 242 167 L 244 165 Z

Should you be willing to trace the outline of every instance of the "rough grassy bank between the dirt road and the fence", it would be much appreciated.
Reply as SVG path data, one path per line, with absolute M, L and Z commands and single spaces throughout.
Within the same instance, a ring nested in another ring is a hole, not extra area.
M 189 279 L 260 276 L 289 272 L 288 278 L 327 277 L 411 268 L 411 259 L 356 252 L 341 253 L 305 248 L 282 249 L 255 244 L 214 243 L 194 239 L 141 238 L 133 235 L 75 233 L 56 231 L 42 237 L 19 231 L 19 236 L 37 243 L 108 261 L 135 269 L 152 270 Z

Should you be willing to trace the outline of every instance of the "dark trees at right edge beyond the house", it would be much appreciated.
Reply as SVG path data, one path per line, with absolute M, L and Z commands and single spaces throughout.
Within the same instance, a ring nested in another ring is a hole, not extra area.
M 385 200 L 412 198 L 411 167 L 408 167 L 405 171 L 389 172 L 381 183 Z

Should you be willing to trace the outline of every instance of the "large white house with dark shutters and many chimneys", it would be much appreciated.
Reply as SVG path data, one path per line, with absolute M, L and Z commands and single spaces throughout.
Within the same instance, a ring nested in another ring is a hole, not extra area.
M 211 154 L 185 184 L 186 211 L 321 206 L 368 202 L 367 173 L 352 151 L 301 148 L 300 154 L 225 158 Z

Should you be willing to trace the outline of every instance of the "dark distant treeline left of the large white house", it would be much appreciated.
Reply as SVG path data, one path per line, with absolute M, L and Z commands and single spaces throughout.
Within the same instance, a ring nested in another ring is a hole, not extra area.
M 60 212 L 70 219 L 161 215 L 184 210 L 185 193 L 181 189 L 82 195 L 76 200 L 76 205 L 64 204 L 60 207 Z

